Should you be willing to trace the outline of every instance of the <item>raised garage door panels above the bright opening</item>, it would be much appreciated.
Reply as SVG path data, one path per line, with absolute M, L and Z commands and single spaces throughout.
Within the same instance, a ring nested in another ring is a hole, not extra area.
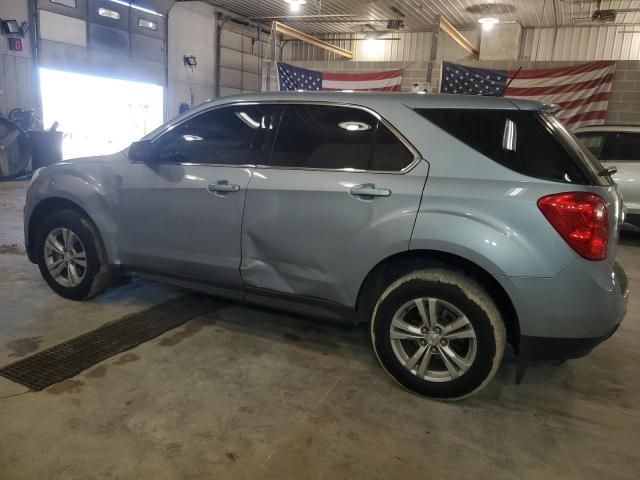
M 40 65 L 165 84 L 170 0 L 38 0 Z

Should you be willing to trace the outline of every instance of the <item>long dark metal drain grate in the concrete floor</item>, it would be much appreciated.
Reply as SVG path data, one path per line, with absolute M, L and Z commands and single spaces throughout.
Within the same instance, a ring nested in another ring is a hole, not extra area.
M 42 390 L 214 311 L 218 305 L 203 297 L 178 297 L 7 365 L 0 369 L 0 376 Z

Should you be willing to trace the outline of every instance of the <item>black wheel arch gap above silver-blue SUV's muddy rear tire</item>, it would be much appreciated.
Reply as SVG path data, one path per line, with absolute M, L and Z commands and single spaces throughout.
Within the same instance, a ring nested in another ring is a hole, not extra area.
M 407 250 L 380 261 L 366 275 L 356 301 L 359 323 L 369 322 L 377 299 L 395 280 L 420 268 L 445 268 L 459 271 L 476 280 L 493 298 L 507 330 L 507 341 L 518 349 L 520 322 L 518 314 L 503 286 L 487 270 L 478 264 L 449 252 L 440 250 Z

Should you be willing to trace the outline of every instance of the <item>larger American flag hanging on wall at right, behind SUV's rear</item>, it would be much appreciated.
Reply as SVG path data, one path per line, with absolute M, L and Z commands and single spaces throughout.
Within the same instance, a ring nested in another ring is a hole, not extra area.
M 604 123 L 614 69 L 615 62 L 611 61 L 520 71 L 443 62 L 440 91 L 499 96 L 504 90 L 506 97 L 554 103 L 561 108 L 556 117 L 573 129 Z

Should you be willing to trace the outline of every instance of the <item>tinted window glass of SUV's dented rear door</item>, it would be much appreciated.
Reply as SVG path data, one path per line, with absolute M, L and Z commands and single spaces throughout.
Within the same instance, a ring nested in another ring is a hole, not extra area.
M 400 171 L 413 154 L 382 122 L 359 108 L 287 105 L 272 166 Z

